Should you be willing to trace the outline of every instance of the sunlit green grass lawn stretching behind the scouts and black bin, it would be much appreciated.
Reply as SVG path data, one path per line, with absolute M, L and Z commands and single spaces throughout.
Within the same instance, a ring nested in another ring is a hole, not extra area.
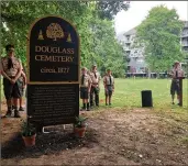
M 153 111 L 151 113 L 158 114 L 168 120 L 174 119 L 177 122 L 188 124 L 188 79 L 184 79 L 184 102 L 183 107 L 172 104 L 169 95 L 170 79 L 115 79 L 114 95 L 112 96 L 111 109 L 120 111 L 132 111 L 142 107 L 142 90 L 152 90 Z M 3 86 L 1 84 L 1 95 L 3 98 Z M 2 99 L 1 98 L 1 99 Z M 177 103 L 177 100 L 176 100 Z M 80 107 L 81 107 L 80 100 Z M 104 88 L 100 85 L 100 107 L 98 111 L 92 111 L 91 114 L 98 114 L 109 107 L 104 106 Z M 96 109 L 95 109 L 96 110 Z M 90 115 L 91 115 L 90 114 Z M 188 135 L 184 137 L 184 142 L 188 143 Z

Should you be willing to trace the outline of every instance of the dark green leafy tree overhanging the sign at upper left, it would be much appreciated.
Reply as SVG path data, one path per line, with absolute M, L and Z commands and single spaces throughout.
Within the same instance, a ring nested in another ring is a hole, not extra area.
M 1 44 L 13 43 L 16 46 L 16 55 L 25 63 L 26 41 L 30 25 L 37 18 L 46 14 L 59 14 L 65 19 L 78 23 L 85 13 L 84 3 L 63 1 L 4 1 L 1 2 Z M 66 9 L 66 10 L 65 10 Z

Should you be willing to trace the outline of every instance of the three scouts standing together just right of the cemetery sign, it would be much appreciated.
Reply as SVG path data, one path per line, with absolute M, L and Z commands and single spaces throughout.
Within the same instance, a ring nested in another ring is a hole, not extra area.
M 97 70 L 97 65 L 92 65 L 91 71 L 86 67 L 81 68 L 80 76 L 80 98 L 82 99 L 81 110 L 89 111 L 93 107 L 99 107 L 101 76 Z M 114 78 L 108 69 L 103 77 L 106 106 L 111 106 L 111 97 L 114 91 Z

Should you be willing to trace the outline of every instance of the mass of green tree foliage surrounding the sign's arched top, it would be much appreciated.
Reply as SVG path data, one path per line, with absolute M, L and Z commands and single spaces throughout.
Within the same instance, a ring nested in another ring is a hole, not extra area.
M 14 44 L 25 64 L 30 25 L 46 14 L 57 14 L 73 22 L 80 36 L 81 65 L 92 63 L 101 71 L 111 68 L 124 73 L 123 48 L 115 37 L 113 16 L 128 10 L 125 1 L 3 1 L 1 2 L 1 46 Z

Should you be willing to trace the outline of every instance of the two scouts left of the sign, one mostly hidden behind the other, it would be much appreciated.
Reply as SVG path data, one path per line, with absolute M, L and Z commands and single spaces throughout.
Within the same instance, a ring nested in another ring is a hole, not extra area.
M 20 118 L 19 111 L 24 111 L 22 97 L 26 86 L 26 76 L 21 59 L 15 57 L 14 46 L 7 45 L 5 52 L 7 56 L 0 59 L 0 71 L 3 76 L 3 91 L 8 107 L 4 118 L 11 117 L 12 111 L 14 111 L 14 118 Z

